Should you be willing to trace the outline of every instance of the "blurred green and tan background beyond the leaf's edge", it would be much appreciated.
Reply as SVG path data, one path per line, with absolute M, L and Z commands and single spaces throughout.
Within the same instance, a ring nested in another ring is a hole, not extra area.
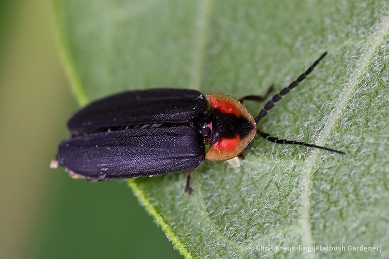
M 126 183 L 50 169 L 77 110 L 51 2 L 0 3 L 0 258 L 182 258 Z

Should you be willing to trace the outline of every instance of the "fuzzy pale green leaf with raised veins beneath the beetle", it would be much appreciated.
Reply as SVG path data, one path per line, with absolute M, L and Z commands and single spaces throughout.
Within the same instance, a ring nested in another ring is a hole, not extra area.
M 187 258 L 389 257 L 386 0 L 55 0 L 55 11 L 83 105 L 130 89 L 280 90 L 328 51 L 258 127 L 347 155 L 257 138 L 239 169 L 205 161 L 192 195 L 185 173 L 129 184 Z M 345 251 L 301 251 L 315 245 Z

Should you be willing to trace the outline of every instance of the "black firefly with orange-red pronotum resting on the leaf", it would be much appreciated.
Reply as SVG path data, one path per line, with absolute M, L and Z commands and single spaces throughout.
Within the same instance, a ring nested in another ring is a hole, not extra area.
M 288 87 L 269 100 L 254 118 L 244 100 L 222 93 L 203 95 L 195 90 L 152 89 L 115 94 L 76 112 L 68 122 L 71 137 L 59 145 L 52 167 L 66 167 L 74 178 L 108 180 L 187 171 L 185 192 L 191 193 L 190 174 L 204 159 L 223 161 L 241 154 L 256 135 L 279 144 L 295 144 L 342 151 L 270 136 L 257 123 L 274 103 L 310 74 L 321 55 Z M 210 145 L 205 154 L 205 145 Z

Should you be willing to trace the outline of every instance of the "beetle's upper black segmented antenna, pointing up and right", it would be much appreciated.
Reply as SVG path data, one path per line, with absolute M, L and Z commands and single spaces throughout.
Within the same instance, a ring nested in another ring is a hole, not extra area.
M 263 107 L 262 110 L 259 111 L 258 116 L 255 118 L 255 122 L 257 123 L 257 122 L 259 122 L 260 119 L 265 117 L 267 114 L 267 111 L 272 109 L 274 104 L 277 103 L 279 100 L 281 100 L 282 95 L 285 95 L 288 92 L 290 92 L 290 90 L 295 88 L 298 85 L 298 83 L 300 83 L 302 80 L 304 80 L 307 77 L 307 75 L 310 74 L 312 72 L 312 70 L 314 70 L 315 66 L 317 66 L 317 64 L 320 62 L 320 60 L 323 59 L 323 57 L 325 57 L 326 55 L 327 55 L 327 52 L 324 52 L 319 58 L 317 58 L 315 60 L 315 62 L 312 64 L 312 66 L 310 66 L 303 74 L 300 74 L 295 81 L 293 81 L 287 87 L 285 87 L 280 92 L 275 94 L 272 97 L 272 99 L 269 100 L 265 104 L 265 107 Z

